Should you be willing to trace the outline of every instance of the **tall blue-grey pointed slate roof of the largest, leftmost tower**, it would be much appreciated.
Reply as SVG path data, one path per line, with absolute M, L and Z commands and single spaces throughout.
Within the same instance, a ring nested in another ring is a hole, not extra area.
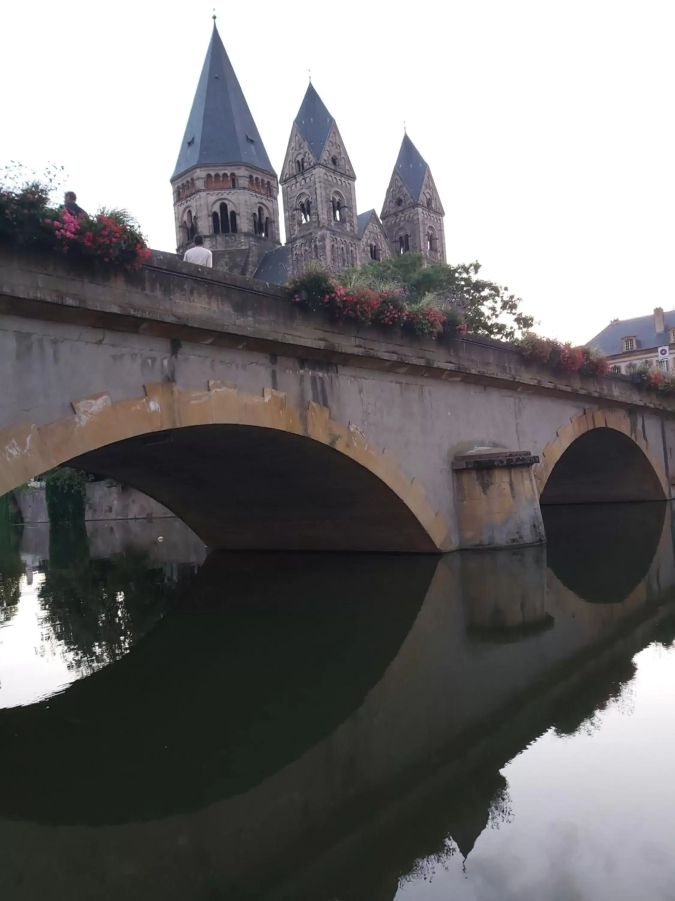
M 245 163 L 275 175 L 214 22 L 172 178 L 193 166 L 229 163 Z

